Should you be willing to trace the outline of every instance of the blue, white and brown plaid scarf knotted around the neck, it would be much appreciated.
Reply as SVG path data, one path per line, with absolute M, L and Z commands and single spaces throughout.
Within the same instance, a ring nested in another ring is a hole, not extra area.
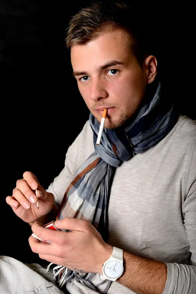
M 103 240 L 107 242 L 109 193 L 116 168 L 123 161 L 130 160 L 134 155 L 146 151 L 161 141 L 177 122 L 176 108 L 163 100 L 160 90 L 159 82 L 152 97 L 149 98 L 148 93 L 147 103 L 122 127 L 104 128 L 100 145 L 96 145 L 100 125 L 90 114 L 89 123 L 93 130 L 95 152 L 76 172 L 62 200 L 58 219 L 65 217 L 86 219 L 98 229 Z M 68 270 L 64 279 L 69 283 L 75 277 L 96 291 L 91 284 L 94 275 L 87 273 L 82 276 Z M 104 293 L 107 293 L 110 282 Z

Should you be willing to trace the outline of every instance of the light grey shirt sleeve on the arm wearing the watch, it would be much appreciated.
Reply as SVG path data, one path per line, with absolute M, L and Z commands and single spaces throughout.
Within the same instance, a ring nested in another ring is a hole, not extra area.
M 168 277 L 163 294 L 196 294 L 196 141 L 185 179 L 182 213 L 190 245 L 190 264 L 166 264 Z

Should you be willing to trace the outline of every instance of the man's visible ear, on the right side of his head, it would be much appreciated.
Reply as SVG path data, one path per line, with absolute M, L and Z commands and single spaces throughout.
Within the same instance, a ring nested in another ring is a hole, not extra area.
M 151 84 L 157 74 L 157 59 L 154 55 L 149 55 L 145 59 L 144 69 L 147 76 L 147 84 Z

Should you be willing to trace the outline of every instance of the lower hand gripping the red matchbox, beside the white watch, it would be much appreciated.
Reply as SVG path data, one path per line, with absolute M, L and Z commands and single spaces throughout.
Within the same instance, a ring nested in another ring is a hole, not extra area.
M 113 247 L 103 241 L 96 228 L 89 221 L 73 218 L 55 221 L 55 226 L 71 232 L 53 231 L 43 228 L 37 221 L 33 223 L 35 235 L 51 243 L 40 243 L 30 236 L 32 251 L 41 259 L 77 272 L 102 273 L 102 265 L 111 256 Z

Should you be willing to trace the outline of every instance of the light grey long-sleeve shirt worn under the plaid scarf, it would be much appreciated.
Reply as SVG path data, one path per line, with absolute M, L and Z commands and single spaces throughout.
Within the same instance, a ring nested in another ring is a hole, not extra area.
M 58 205 L 93 151 L 93 132 L 86 122 L 47 190 Z M 167 264 L 163 294 L 196 294 L 196 121 L 180 116 L 161 142 L 116 169 L 108 214 L 110 245 Z M 100 281 L 97 274 L 93 284 Z M 74 280 L 68 291 L 95 293 Z M 108 291 L 114 293 L 134 292 L 116 281 Z

